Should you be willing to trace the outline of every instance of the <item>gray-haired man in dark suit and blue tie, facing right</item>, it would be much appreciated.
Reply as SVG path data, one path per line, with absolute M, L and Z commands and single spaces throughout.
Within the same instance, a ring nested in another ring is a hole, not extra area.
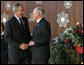
M 29 64 L 31 40 L 28 20 L 23 17 L 24 7 L 17 3 L 13 6 L 14 16 L 5 24 L 5 40 L 8 42 L 9 64 Z

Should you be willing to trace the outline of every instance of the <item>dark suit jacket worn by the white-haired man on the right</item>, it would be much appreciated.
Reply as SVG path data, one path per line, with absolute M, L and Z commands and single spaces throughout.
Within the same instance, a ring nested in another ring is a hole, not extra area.
M 35 42 L 35 45 L 31 47 L 33 59 L 48 59 L 50 57 L 50 37 L 50 24 L 42 18 L 33 31 L 32 40 Z

